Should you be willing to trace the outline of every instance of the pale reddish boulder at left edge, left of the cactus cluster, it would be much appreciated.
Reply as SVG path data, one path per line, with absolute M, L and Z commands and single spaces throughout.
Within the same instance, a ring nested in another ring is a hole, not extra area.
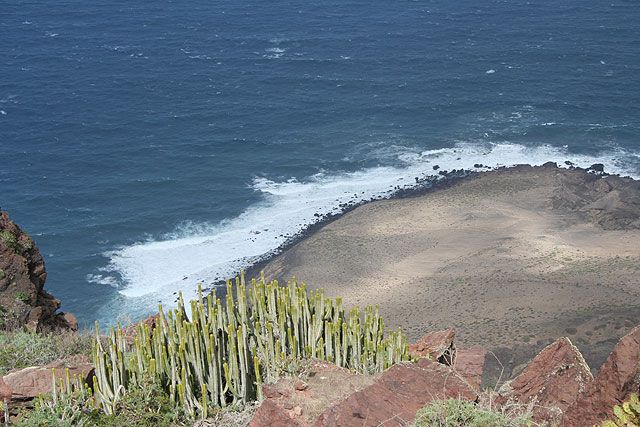
M 72 381 L 74 375 L 79 376 L 83 383 L 89 382 L 89 378 L 93 376 L 93 364 L 69 364 L 64 361 L 13 371 L 3 377 L 4 382 L 13 390 L 13 400 L 31 400 L 39 393 L 51 393 L 53 390 L 52 368 L 55 368 L 56 384 L 59 384 L 60 378 L 66 381 L 66 368 L 69 368 L 69 377 Z

